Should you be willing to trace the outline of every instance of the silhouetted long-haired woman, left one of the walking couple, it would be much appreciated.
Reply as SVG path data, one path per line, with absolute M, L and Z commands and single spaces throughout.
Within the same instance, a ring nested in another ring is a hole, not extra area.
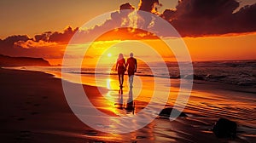
M 119 86 L 123 88 L 124 75 L 125 75 L 125 58 L 123 54 L 119 54 L 119 58 L 116 62 L 115 71 L 119 74 Z

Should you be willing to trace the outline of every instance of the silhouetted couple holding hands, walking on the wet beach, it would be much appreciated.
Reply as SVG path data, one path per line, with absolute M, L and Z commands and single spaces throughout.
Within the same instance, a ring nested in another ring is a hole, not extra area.
M 127 68 L 128 67 L 128 68 Z M 133 58 L 133 53 L 130 54 L 130 58 L 125 63 L 125 58 L 123 54 L 119 54 L 119 58 L 116 62 L 115 71 L 119 74 L 119 86 L 123 88 L 124 75 L 127 69 L 129 76 L 130 87 L 132 88 L 134 73 L 137 72 L 137 60 Z

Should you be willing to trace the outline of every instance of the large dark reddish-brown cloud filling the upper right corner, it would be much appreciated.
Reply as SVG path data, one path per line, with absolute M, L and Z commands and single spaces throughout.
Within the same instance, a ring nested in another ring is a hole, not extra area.
M 256 31 L 255 4 L 234 13 L 238 7 L 236 0 L 182 0 L 162 17 L 183 37 Z

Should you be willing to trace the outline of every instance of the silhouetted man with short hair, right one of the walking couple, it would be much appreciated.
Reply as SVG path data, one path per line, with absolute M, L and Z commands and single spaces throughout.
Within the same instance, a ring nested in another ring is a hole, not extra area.
M 134 73 L 137 72 L 137 60 L 133 58 L 133 53 L 130 54 L 130 58 L 126 62 L 125 69 L 127 69 L 130 88 L 132 88 Z

